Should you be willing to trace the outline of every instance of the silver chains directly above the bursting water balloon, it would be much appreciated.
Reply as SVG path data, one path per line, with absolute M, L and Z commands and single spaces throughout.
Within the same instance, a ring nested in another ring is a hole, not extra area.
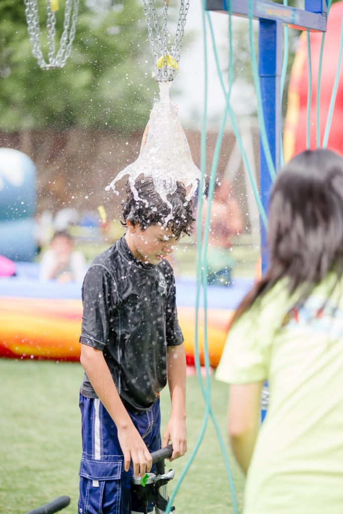
M 162 29 L 160 30 L 158 24 L 157 13 L 155 9 L 154 0 L 142 0 L 143 1 L 143 11 L 146 17 L 147 25 L 148 25 L 148 36 L 149 43 L 154 57 L 154 63 L 157 65 L 157 60 L 159 58 L 164 58 L 163 66 L 161 68 L 157 68 L 156 72 L 156 80 L 157 81 L 169 81 L 173 80 L 173 75 L 175 68 L 171 67 L 167 63 L 167 56 L 176 61 L 176 63 L 180 60 L 180 53 L 182 50 L 182 44 L 185 35 L 185 25 L 187 19 L 187 13 L 189 10 L 189 0 L 180 0 L 180 8 L 178 13 L 178 20 L 176 26 L 176 33 L 174 42 L 170 51 L 168 51 L 168 31 L 167 31 L 167 22 L 168 22 L 168 6 L 169 0 L 164 0 L 163 6 L 163 19 L 162 19 Z M 155 34 L 154 34 L 155 33 Z M 156 48 L 157 47 L 157 48 Z

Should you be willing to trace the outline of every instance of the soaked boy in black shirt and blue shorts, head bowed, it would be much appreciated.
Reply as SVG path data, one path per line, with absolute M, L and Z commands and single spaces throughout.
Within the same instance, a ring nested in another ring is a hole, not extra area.
M 159 393 L 167 380 L 171 416 L 162 446 L 171 441 L 171 460 L 187 449 L 184 339 L 164 257 L 190 233 L 192 207 L 178 182 L 164 226 L 170 209 L 152 179 L 135 187 L 141 201 L 128 187 L 123 204 L 127 233 L 95 259 L 82 287 L 80 514 L 142 512 L 132 476 L 150 471 L 150 452 L 161 446 Z

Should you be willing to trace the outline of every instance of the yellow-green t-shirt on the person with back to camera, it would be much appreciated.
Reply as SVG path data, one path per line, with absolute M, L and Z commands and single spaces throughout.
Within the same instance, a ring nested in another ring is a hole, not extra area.
M 298 310 L 280 282 L 228 334 L 216 378 L 267 379 L 270 390 L 244 514 L 343 513 L 343 282 L 336 282 L 331 273 Z

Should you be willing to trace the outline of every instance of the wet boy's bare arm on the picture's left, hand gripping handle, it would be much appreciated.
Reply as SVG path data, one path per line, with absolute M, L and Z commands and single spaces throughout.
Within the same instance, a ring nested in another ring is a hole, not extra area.
M 125 471 L 129 471 L 132 460 L 134 475 L 144 476 L 152 465 L 149 450 L 120 399 L 102 352 L 93 346 L 81 344 L 80 361 L 93 389 L 117 427 Z

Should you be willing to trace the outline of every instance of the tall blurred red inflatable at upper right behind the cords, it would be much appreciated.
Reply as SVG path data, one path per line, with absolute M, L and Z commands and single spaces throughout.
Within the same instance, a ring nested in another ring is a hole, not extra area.
M 339 38 L 343 15 L 343 2 L 331 6 L 326 39 L 324 44 L 322 72 L 320 81 L 320 146 L 322 145 L 326 123 L 328 119 L 331 93 L 334 86 L 336 70 L 338 67 Z M 316 98 L 318 84 L 318 68 L 321 45 L 321 32 L 310 33 L 311 64 L 312 64 L 312 97 L 311 97 L 311 124 L 310 146 L 316 148 Z M 284 129 L 284 157 L 285 161 L 303 150 L 306 150 L 308 103 L 308 50 L 306 33 L 303 32 L 294 60 L 290 85 L 288 88 L 288 107 Z M 328 148 L 343 154 L 342 123 L 343 119 L 343 66 L 340 68 L 337 96 L 331 129 L 328 139 Z

